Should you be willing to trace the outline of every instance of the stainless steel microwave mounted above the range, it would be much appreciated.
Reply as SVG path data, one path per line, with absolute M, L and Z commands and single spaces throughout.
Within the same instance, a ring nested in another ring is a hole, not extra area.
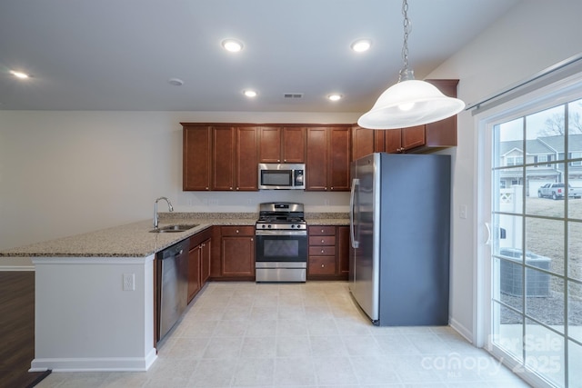
M 258 164 L 258 188 L 261 190 L 305 190 L 305 164 Z

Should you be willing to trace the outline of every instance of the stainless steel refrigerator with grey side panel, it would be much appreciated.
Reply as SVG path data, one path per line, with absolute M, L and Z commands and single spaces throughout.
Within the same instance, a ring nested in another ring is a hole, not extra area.
M 379 326 L 448 324 L 450 156 L 369 154 L 351 176 L 356 302 Z

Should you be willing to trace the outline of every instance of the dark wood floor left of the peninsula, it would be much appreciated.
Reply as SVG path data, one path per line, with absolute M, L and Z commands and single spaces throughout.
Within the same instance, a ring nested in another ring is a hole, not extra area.
M 0 271 L 0 344 L 0 388 L 33 387 L 48 374 L 28 372 L 35 358 L 33 271 Z

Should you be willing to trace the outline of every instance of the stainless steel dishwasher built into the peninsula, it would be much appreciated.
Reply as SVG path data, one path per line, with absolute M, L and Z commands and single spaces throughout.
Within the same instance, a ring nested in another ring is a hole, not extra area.
M 180 318 L 187 304 L 188 248 L 190 239 L 174 244 L 158 254 L 161 262 L 159 339 Z

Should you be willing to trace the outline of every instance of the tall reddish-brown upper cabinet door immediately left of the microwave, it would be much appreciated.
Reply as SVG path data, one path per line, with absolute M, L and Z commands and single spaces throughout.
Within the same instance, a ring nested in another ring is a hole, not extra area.
M 256 127 L 236 128 L 236 190 L 258 190 Z

